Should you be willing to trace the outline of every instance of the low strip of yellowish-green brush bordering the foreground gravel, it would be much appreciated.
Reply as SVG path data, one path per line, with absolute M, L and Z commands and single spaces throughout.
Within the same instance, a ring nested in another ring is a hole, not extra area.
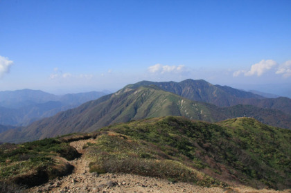
M 174 160 L 148 160 L 141 158 L 118 159 L 110 156 L 103 163 L 91 163 L 90 172 L 99 174 L 105 172 L 137 174 L 141 176 L 152 176 L 169 179 L 170 181 L 182 181 L 197 185 L 213 186 L 225 185 L 220 181 L 197 172 L 195 169 Z

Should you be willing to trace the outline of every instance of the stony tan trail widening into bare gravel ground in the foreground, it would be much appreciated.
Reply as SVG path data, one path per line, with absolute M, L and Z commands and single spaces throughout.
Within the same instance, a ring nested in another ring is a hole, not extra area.
M 90 140 L 76 141 L 71 143 L 71 146 L 82 154 L 83 145 Z M 89 173 L 89 162 L 83 156 L 72 160 L 71 165 L 75 167 L 73 174 L 30 188 L 27 192 L 276 192 L 274 190 L 253 190 L 249 187 L 201 187 L 132 174 L 98 175 Z M 290 190 L 284 191 L 284 193 L 287 192 L 291 193 Z

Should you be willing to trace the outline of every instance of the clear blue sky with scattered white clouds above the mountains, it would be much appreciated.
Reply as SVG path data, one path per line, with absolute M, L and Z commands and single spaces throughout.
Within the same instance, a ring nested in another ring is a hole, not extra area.
M 291 1 L 0 0 L 0 91 L 191 78 L 291 98 Z

